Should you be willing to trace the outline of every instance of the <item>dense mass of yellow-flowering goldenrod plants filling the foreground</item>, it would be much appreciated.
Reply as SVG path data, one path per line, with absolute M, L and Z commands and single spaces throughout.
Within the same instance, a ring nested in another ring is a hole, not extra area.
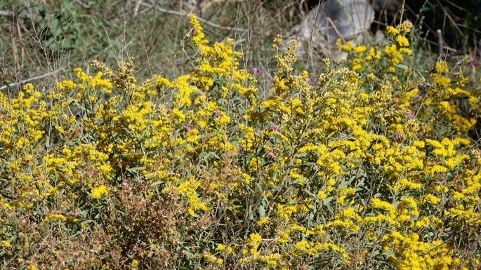
M 468 60 L 422 78 L 403 22 L 314 78 L 277 36 L 263 91 L 191 24 L 176 79 L 93 62 L 0 95 L 5 269 L 480 268 Z

